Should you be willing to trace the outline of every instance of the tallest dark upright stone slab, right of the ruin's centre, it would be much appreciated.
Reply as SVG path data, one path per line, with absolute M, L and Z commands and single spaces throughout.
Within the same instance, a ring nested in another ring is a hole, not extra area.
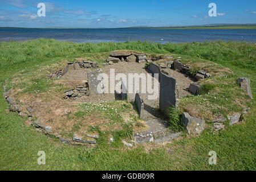
M 159 107 L 163 113 L 168 113 L 170 106 L 178 107 L 178 90 L 176 79 L 160 73 Z

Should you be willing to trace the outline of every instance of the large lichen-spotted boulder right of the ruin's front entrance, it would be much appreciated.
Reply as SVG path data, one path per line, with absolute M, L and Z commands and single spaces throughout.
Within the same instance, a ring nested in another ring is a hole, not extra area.
M 189 113 L 182 114 L 182 122 L 190 135 L 201 134 L 205 129 L 205 121 L 199 118 L 193 118 Z

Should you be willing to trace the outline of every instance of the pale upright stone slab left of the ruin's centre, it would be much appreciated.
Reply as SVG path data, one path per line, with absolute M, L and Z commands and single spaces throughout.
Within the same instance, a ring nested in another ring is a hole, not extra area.
M 103 81 L 102 80 L 97 80 L 97 76 L 100 73 L 101 73 L 101 69 L 96 69 L 95 71 L 87 73 L 90 96 L 95 96 L 97 94 L 102 94 L 101 92 L 103 91 L 102 90 L 103 89 Z

